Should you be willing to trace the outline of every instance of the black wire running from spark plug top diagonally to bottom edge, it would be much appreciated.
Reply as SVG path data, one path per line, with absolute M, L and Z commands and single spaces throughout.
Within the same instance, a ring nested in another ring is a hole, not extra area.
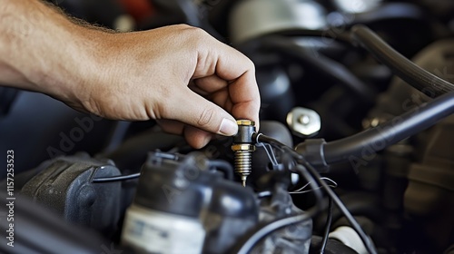
M 345 218 L 350 222 L 351 228 L 353 230 L 355 230 L 356 233 L 360 236 L 360 239 L 362 240 L 364 246 L 369 251 L 369 253 L 370 254 L 376 254 L 377 253 L 377 250 L 375 249 L 373 244 L 370 242 L 370 239 L 366 235 L 366 233 L 361 229 L 360 224 L 358 223 L 358 221 L 356 221 L 355 218 L 353 218 L 353 216 L 351 215 L 350 211 L 345 207 L 345 205 L 342 203 L 341 199 L 336 195 L 336 193 L 334 193 L 334 191 L 331 190 L 330 186 L 325 181 L 321 180 L 321 175 L 319 174 L 319 172 L 311 165 L 311 163 L 309 163 L 308 161 L 305 160 L 303 155 L 301 155 L 300 153 L 297 153 L 296 151 L 293 151 L 287 145 L 285 145 L 285 144 L 283 144 L 283 143 L 281 143 L 281 142 L 279 142 L 279 141 L 277 141 L 277 140 L 275 140 L 275 139 L 273 139 L 271 137 L 265 136 L 263 134 L 254 134 L 252 136 L 252 138 L 255 139 L 257 142 L 268 142 L 271 145 L 275 145 L 278 148 L 281 148 L 282 150 L 289 152 L 289 154 L 291 154 L 291 156 L 293 156 L 295 158 L 295 160 L 303 163 L 305 168 L 308 171 L 311 172 L 311 175 L 313 176 L 313 179 L 315 181 L 317 181 L 317 183 L 319 185 L 321 185 L 321 187 L 323 189 L 325 189 L 325 191 L 330 196 L 330 198 L 333 201 L 333 203 L 336 204 L 336 206 L 339 208 L 339 210 L 341 210 L 341 212 L 343 213 Z

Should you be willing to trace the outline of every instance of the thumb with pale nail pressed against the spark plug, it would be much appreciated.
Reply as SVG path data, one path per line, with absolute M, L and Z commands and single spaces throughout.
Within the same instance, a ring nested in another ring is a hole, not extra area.
M 220 106 L 209 102 L 190 89 L 183 96 L 173 96 L 176 102 L 168 104 L 164 118 L 190 124 L 206 132 L 233 136 L 238 132 L 238 125 L 231 114 Z

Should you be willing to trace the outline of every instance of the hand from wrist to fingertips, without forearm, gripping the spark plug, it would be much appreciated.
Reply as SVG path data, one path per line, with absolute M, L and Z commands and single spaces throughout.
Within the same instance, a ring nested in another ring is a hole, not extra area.
M 195 148 L 211 133 L 234 135 L 235 118 L 259 120 L 252 62 L 199 28 L 104 34 L 100 42 L 103 79 L 86 83 L 78 95 L 89 112 L 156 119 L 165 131 L 184 133 Z

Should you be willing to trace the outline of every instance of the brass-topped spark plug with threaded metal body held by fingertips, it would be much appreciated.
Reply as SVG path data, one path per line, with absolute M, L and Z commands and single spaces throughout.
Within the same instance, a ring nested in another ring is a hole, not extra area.
M 238 133 L 233 137 L 232 151 L 235 152 L 235 173 L 239 174 L 242 186 L 246 187 L 247 177 L 252 172 L 252 151 L 255 144 L 252 134 L 255 132 L 255 122 L 251 120 L 238 120 Z

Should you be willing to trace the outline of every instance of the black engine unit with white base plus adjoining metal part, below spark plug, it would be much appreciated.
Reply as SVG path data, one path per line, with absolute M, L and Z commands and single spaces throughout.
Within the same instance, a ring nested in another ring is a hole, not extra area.
M 200 152 L 150 153 L 126 212 L 123 245 L 138 253 L 229 253 L 260 223 L 301 213 L 282 186 L 259 201 L 251 189 L 224 180 L 222 174 L 209 171 L 209 165 Z M 309 249 L 310 241 L 308 220 L 274 232 L 253 253 L 288 248 L 300 253 Z

